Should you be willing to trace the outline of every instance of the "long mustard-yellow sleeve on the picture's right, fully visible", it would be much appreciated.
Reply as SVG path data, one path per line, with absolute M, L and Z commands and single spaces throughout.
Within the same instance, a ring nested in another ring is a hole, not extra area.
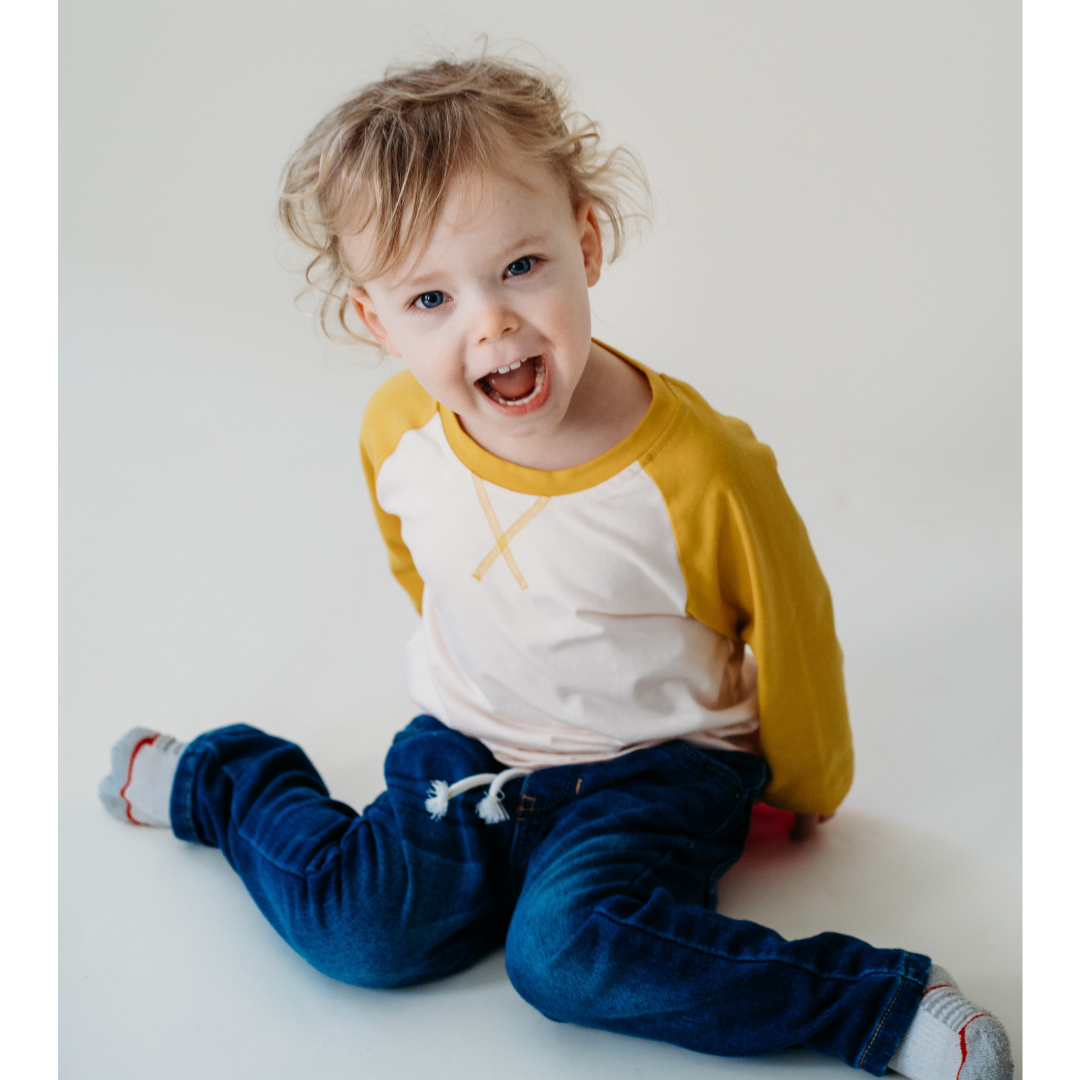
M 832 813 L 854 754 L 833 602 L 769 449 L 740 420 L 665 379 L 685 410 L 649 462 L 667 502 L 687 613 L 754 650 L 766 800 Z

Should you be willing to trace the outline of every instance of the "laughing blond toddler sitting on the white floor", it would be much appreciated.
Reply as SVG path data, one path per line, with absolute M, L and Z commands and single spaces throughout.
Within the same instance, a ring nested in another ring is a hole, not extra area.
M 828 589 L 772 453 L 591 336 L 635 184 L 561 84 L 488 56 L 391 75 L 315 127 L 281 213 L 324 325 L 407 367 L 361 455 L 420 615 L 421 715 L 362 813 L 244 725 L 129 732 L 102 798 L 220 848 L 333 978 L 406 986 L 504 945 L 552 1020 L 1010 1077 L 1001 1024 L 929 957 L 715 912 L 753 804 L 811 829 L 848 791 L 851 737 Z

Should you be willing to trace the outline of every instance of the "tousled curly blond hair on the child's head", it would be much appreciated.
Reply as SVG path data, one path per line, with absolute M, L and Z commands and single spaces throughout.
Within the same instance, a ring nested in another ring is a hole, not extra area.
M 649 219 L 649 186 L 632 150 L 599 144 L 566 79 L 516 59 L 442 59 L 364 86 L 315 125 L 282 174 L 279 215 L 312 255 L 305 293 L 319 298 L 319 325 L 372 343 L 349 325 L 349 285 L 422 251 L 451 184 L 498 170 L 508 146 L 562 176 L 573 206 L 593 204 L 617 258 Z M 342 239 L 368 228 L 372 256 L 350 266 Z

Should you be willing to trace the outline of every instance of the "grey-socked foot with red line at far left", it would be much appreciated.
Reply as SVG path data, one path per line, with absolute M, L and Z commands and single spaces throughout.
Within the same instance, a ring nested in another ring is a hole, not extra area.
M 132 825 L 168 828 L 173 778 L 187 743 L 132 728 L 112 747 L 112 772 L 97 786 L 105 809 Z

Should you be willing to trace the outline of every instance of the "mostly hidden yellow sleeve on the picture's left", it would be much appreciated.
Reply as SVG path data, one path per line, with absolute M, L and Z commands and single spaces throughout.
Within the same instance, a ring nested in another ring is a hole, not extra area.
M 367 490 L 375 519 L 390 555 L 390 569 L 409 594 L 417 611 L 423 599 L 423 579 L 413 563 L 413 554 L 402 540 L 401 518 L 388 514 L 376 497 L 375 486 L 383 462 L 397 448 L 406 431 L 422 428 L 437 411 L 435 400 L 408 373 L 387 379 L 372 395 L 360 431 L 360 457 L 364 463 Z

